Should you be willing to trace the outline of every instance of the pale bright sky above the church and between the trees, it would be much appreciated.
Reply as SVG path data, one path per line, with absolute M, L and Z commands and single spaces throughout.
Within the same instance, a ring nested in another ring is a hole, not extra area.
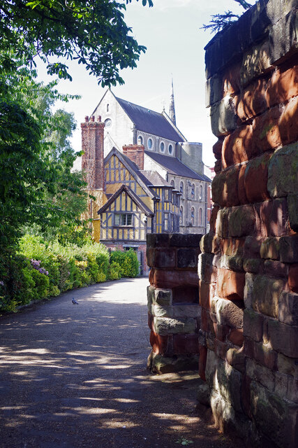
M 125 84 L 112 87 L 117 97 L 157 112 L 168 113 L 170 88 L 173 77 L 176 123 L 188 141 L 199 141 L 203 147 L 203 161 L 214 166 L 212 146 L 216 137 L 211 133 L 208 109 L 204 99 L 204 46 L 214 36 L 200 29 L 210 16 L 232 10 L 242 13 L 233 0 L 153 0 L 154 7 L 142 6 L 142 1 L 132 0 L 127 6 L 126 24 L 139 45 L 147 51 L 142 54 L 137 68 L 121 71 Z M 251 2 L 252 3 L 252 2 Z M 105 89 L 98 86 L 82 65 L 68 64 L 73 81 L 61 80 L 61 93 L 80 94 L 81 99 L 67 104 L 57 104 L 73 112 L 77 130 L 72 144 L 81 150 L 80 123 L 91 115 Z M 47 82 L 45 68 L 38 66 L 39 79 Z

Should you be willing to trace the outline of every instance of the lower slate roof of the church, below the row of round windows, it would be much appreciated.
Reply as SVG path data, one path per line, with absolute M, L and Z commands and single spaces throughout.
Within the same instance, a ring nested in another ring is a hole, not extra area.
M 163 167 L 169 174 L 188 177 L 188 179 L 196 179 L 197 181 L 211 182 L 209 177 L 194 172 L 191 168 L 186 167 L 181 160 L 175 157 L 168 157 L 167 155 L 151 153 L 149 151 L 145 151 L 145 154 L 153 159 L 154 162 L 158 163 L 158 165 L 161 165 L 161 167 Z

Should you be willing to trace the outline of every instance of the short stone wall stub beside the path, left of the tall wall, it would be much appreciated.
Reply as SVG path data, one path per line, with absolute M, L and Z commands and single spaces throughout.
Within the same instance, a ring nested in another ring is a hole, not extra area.
M 148 325 L 153 372 L 198 370 L 201 235 L 147 235 Z

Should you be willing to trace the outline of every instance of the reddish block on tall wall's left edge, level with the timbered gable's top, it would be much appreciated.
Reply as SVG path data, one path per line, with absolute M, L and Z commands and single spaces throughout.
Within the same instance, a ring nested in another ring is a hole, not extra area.
M 233 166 L 216 174 L 211 184 L 214 204 L 219 204 L 221 207 L 239 205 L 238 179 L 239 167 Z

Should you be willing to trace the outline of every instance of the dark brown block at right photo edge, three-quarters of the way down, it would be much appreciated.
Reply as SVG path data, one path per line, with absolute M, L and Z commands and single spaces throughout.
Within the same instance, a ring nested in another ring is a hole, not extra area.
M 298 358 L 297 326 L 285 325 L 272 319 L 268 322 L 268 333 L 274 350 L 289 358 Z

